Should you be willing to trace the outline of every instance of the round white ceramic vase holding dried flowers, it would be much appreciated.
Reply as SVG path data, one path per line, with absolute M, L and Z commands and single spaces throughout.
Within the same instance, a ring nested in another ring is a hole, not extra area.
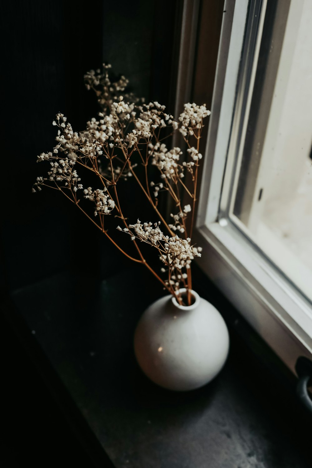
M 153 382 L 169 390 L 193 390 L 210 382 L 229 350 L 229 334 L 218 310 L 196 292 L 192 295 L 191 306 L 180 306 L 171 295 L 156 300 L 135 331 L 139 366 Z

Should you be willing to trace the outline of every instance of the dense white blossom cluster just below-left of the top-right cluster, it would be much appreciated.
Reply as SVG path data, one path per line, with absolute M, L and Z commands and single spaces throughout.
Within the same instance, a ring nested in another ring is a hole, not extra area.
M 152 154 L 152 164 L 157 166 L 161 172 L 162 179 L 173 179 L 175 176 L 182 177 L 183 174 L 181 164 L 178 163 L 181 149 L 174 147 L 170 151 L 167 150 L 165 143 L 156 143 L 155 146 L 150 146 L 150 154 Z M 158 151 L 159 150 L 159 151 Z

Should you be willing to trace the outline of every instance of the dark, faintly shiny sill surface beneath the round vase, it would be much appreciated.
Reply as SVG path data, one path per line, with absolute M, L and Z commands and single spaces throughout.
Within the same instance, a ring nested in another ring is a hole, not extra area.
M 132 269 L 102 282 L 65 272 L 11 294 L 9 321 L 89 452 L 117 468 L 311 467 L 295 392 L 231 327 L 228 361 L 204 388 L 168 392 L 145 378 L 133 331 L 160 293 Z

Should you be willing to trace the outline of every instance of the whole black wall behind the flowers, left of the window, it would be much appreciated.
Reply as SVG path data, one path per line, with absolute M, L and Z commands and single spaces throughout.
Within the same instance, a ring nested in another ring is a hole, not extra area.
M 54 146 L 57 112 L 78 131 L 96 113 L 83 75 L 102 61 L 138 95 L 169 102 L 176 1 L 13 0 L 1 9 L 1 283 L 11 289 L 68 268 L 105 275 L 103 260 L 114 271 L 123 259 L 61 196 L 31 193 L 45 173 L 36 155 Z

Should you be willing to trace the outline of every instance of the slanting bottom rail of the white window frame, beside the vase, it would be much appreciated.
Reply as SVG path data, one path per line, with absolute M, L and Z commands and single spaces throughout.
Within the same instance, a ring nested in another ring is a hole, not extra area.
M 311 358 L 311 307 L 230 221 L 196 228 L 198 264 L 293 372 Z

